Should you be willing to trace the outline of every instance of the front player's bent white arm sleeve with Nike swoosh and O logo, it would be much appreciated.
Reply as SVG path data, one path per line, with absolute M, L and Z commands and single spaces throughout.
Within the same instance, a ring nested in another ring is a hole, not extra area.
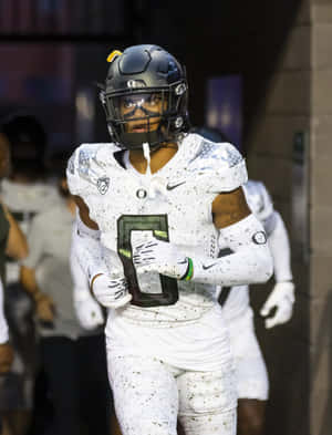
M 221 258 L 194 258 L 191 280 L 221 286 L 266 282 L 272 275 L 272 257 L 259 220 L 251 214 L 220 229 L 222 246 L 234 252 Z

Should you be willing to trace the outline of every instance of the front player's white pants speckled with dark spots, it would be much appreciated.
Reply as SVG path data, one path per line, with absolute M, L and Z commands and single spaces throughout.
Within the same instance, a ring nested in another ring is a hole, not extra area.
M 123 435 L 236 435 L 234 371 L 188 372 L 147 356 L 108 353 Z

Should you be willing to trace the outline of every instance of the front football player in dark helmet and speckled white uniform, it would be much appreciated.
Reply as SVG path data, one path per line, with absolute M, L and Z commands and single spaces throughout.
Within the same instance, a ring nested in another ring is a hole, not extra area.
M 188 134 L 185 69 L 164 49 L 112 52 L 101 100 L 112 142 L 68 166 L 74 252 L 107 307 L 111 386 L 123 435 L 236 433 L 236 380 L 216 286 L 266 282 L 267 236 L 229 143 Z M 219 239 L 232 253 L 217 258 Z

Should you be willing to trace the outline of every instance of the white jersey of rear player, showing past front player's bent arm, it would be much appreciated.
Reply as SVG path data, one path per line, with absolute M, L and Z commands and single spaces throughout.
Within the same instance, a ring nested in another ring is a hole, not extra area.
M 251 209 L 253 215 L 261 221 L 267 235 L 269 236 L 274 229 L 276 215 L 274 215 L 272 199 L 266 186 L 261 182 L 249 179 L 242 186 L 242 188 L 249 208 Z M 248 286 L 232 287 L 222 305 L 222 312 L 225 319 L 227 321 L 239 319 L 247 311 L 249 303 L 250 303 L 249 287 Z

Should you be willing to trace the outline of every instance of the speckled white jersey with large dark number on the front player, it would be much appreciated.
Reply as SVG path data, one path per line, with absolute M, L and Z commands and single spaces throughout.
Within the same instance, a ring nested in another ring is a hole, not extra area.
M 124 262 L 127 280 L 134 276 L 139 287 L 134 303 L 112 310 L 112 317 L 159 328 L 197 321 L 214 307 L 215 287 L 158 273 L 137 276 L 131 259 L 133 247 L 157 237 L 188 257 L 216 258 L 218 230 L 211 205 L 219 193 L 247 182 L 245 160 L 232 145 L 197 134 L 185 136 L 175 156 L 152 175 L 127 169 L 128 159 L 118 163 L 121 153 L 114 144 L 83 144 L 68 167 L 71 193 L 84 199 L 100 227 L 110 270 L 123 268 Z M 158 302 L 152 307 L 154 298 Z

